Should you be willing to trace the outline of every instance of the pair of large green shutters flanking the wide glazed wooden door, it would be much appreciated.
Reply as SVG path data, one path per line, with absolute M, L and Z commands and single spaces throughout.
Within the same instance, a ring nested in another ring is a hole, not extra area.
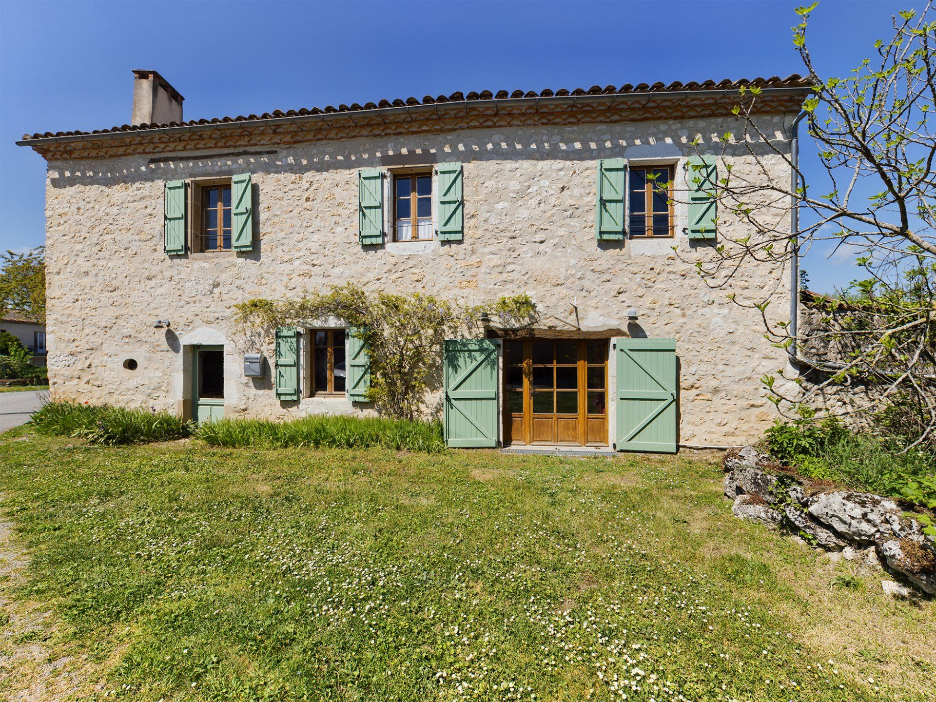
M 677 370 L 673 339 L 613 339 L 615 447 L 676 453 Z M 497 446 L 497 346 L 490 339 L 448 340 L 444 353 L 447 446 Z

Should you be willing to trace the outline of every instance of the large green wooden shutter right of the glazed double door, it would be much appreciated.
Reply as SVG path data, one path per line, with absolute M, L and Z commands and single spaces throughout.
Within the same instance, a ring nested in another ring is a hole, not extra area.
M 615 339 L 617 449 L 676 453 L 676 341 Z

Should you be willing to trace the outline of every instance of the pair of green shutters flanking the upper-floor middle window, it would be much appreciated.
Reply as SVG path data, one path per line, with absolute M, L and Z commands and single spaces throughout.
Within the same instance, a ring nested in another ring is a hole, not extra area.
M 461 241 L 464 235 L 464 191 L 461 163 L 441 163 L 436 206 L 439 241 Z M 384 171 L 358 170 L 358 241 L 362 246 L 384 242 Z

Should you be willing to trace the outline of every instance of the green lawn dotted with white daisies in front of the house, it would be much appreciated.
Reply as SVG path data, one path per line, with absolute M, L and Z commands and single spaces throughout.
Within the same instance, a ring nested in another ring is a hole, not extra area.
M 717 459 L 27 427 L 0 490 L 32 556 L 16 595 L 52 607 L 82 698 L 932 698 L 936 603 L 735 519 Z

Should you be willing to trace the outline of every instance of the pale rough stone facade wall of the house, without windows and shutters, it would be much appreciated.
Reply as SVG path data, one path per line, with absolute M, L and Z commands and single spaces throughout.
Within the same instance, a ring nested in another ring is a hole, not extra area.
M 790 118 L 761 121 L 785 148 Z M 278 402 L 269 366 L 265 378 L 245 378 L 242 355 L 262 351 L 272 358 L 272 348 L 234 329 L 231 306 L 348 281 L 469 303 L 527 292 L 544 326 L 578 324 L 675 338 L 680 441 L 744 443 L 774 417 L 758 379 L 782 368 L 785 354 L 763 339 L 758 314 L 699 280 L 695 247 L 709 244 L 686 238 L 686 206 L 676 207 L 675 240 L 594 237 L 596 159 L 676 163 L 677 198 L 684 199 L 683 165 L 694 153 L 691 141 L 701 135 L 714 144 L 735 126 L 711 119 L 517 127 L 314 142 L 240 155 L 51 162 L 46 210 L 52 394 L 184 411 L 190 397 L 188 344 L 226 344 L 228 416 L 364 411 L 341 399 Z M 731 145 L 729 157 L 735 168 L 753 174 L 749 146 Z M 358 168 L 416 150 L 464 164 L 464 241 L 362 248 Z M 772 177 L 789 180 L 779 156 L 765 159 Z M 255 250 L 166 256 L 164 182 L 247 171 L 256 193 Z M 724 227 L 739 231 L 734 222 Z M 776 290 L 771 310 L 787 309 L 784 271 L 745 271 L 734 289 L 742 296 Z M 629 308 L 639 314 L 630 326 Z M 154 329 L 156 319 L 167 318 L 170 329 Z M 127 358 L 137 361 L 137 370 L 124 369 Z

